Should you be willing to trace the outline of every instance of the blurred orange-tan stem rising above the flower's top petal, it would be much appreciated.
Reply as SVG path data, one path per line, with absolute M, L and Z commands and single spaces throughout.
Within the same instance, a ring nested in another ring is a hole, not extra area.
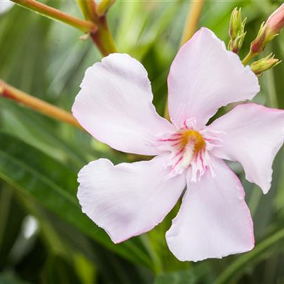
M 185 28 L 183 30 L 182 40 L 180 45 L 184 45 L 192 35 L 195 34 L 197 24 L 200 21 L 200 16 L 204 6 L 204 0 L 192 1 L 190 9 L 187 13 L 187 19 L 185 22 Z

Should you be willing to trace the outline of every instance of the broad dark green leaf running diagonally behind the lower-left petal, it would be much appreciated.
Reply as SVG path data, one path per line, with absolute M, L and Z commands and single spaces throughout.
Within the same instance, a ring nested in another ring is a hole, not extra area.
M 76 198 L 77 173 L 18 138 L 1 132 L 0 178 L 111 251 L 151 267 L 150 257 L 141 249 L 143 246 L 138 239 L 114 245 L 102 229 L 82 214 Z

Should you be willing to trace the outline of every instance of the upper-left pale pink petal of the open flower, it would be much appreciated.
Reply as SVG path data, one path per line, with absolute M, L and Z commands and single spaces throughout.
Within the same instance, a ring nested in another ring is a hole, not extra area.
M 89 67 L 72 112 L 103 143 L 126 153 L 156 155 L 155 134 L 173 129 L 152 104 L 148 75 L 140 62 L 114 53 Z

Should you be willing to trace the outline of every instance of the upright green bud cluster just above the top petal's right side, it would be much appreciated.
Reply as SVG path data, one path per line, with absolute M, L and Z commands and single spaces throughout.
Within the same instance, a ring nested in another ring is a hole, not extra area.
M 244 26 L 246 25 L 246 18 L 241 21 L 241 9 L 235 8 L 231 13 L 231 20 L 229 26 L 230 42 L 228 49 L 234 53 L 239 53 L 241 46 L 244 43 L 244 37 L 246 33 L 244 32 Z

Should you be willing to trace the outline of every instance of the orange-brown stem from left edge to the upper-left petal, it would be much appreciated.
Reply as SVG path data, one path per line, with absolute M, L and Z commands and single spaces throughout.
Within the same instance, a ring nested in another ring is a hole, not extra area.
M 48 102 L 43 102 L 41 99 L 35 98 L 30 94 L 26 94 L 19 89 L 11 87 L 2 80 L 0 80 L 0 95 L 7 99 L 13 99 L 13 101 L 23 104 L 30 109 L 40 112 L 41 114 L 50 116 L 53 119 L 64 121 L 67 124 L 71 124 L 72 126 L 82 129 L 82 126 L 80 126 L 75 117 L 69 112 L 60 109 L 59 107 L 55 107 L 52 104 L 48 104 Z

